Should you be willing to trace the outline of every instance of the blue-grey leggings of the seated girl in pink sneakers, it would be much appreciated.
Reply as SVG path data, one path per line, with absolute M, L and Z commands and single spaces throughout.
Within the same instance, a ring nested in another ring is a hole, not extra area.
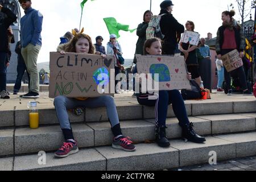
M 119 123 L 117 108 L 115 107 L 114 98 L 112 96 L 93 97 L 84 101 L 65 96 L 57 96 L 54 99 L 54 106 L 61 129 L 71 130 L 67 109 L 73 109 L 78 106 L 89 108 L 106 106 L 111 126 L 114 127 Z

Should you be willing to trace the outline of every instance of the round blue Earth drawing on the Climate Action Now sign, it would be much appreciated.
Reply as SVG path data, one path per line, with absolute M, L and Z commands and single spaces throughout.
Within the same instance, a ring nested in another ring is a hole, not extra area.
M 104 74 L 103 74 L 104 73 Z M 98 68 L 93 73 L 93 80 L 97 85 L 107 85 L 109 83 L 109 71 L 105 67 Z

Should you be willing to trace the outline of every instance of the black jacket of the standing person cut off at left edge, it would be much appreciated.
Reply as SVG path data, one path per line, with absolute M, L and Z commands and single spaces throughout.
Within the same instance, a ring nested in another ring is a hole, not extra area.
M 15 22 L 16 15 L 6 7 L 2 7 L 1 11 L 2 13 L 5 13 L 7 17 L 0 19 L 0 52 L 8 52 L 9 39 L 7 28 L 10 27 L 11 23 Z

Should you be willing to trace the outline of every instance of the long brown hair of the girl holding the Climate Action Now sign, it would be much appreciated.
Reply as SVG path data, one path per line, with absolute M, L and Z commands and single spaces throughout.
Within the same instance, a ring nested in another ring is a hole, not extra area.
M 71 42 L 69 42 L 67 44 L 67 47 L 65 48 L 64 51 L 65 52 L 76 52 L 76 43 L 81 38 L 84 38 L 84 39 L 88 40 L 88 42 L 89 42 L 89 51 L 88 51 L 88 53 L 94 54 L 95 53 L 95 48 L 93 46 L 92 39 L 87 34 L 77 34 L 76 36 L 74 36 L 73 39 L 71 40 Z

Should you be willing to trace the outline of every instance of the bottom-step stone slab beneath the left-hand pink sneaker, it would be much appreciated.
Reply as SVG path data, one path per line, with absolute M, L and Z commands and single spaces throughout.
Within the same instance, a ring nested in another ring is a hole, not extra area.
M 16 156 L 14 171 L 38 170 L 38 171 L 104 171 L 106 170 L 106 159 L 95 149 L 87 148 L 79 150 L 76 154 L 67 158 L 56 158 L 53 153 L 46 154 L 46 164 L 40 165 L 42 156 L 26 155 Z

